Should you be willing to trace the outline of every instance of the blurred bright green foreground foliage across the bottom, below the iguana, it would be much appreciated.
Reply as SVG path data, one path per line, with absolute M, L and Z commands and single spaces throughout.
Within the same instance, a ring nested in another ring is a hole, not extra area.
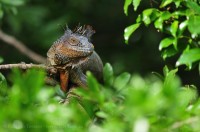
M 11 87 L 0 78 L 0 131 L 199 131 L 196 88 L 181 86 L 177 69 L 163 72 L 162 79 L 116 76 L 107 63 L 105 85 L 88 72 L 89 90 L 73 89 L 64 105 L 61 91 L 43 84 L 43 71 L 14 70 Z

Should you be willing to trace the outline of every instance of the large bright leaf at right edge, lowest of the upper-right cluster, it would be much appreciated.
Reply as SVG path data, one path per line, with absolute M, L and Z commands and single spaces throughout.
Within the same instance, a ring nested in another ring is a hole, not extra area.
M 200 48 L 195 48 L 183 52 L 183 54 L 176 62 L 176 66 L 185 64 L 191 69 L 192 63 L 197 61 L 200 61 Z

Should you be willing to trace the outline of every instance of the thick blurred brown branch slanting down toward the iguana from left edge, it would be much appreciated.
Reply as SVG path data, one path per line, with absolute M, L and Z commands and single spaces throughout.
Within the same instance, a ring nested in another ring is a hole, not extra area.
M 26 47 L 25 44 L 17 40 L 15 37 L 4 33 L 2 30 L 0 30 L 0 39 L 18 49 L 21 53 L 29 57 L 34 62 L 44 63 L 46 60 L 43 56 L 33 52 Z

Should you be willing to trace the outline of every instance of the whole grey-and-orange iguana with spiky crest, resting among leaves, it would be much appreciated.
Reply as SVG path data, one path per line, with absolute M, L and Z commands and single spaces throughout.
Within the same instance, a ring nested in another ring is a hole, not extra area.
M 64 92 L 69 85 L 87 87 L 86 71 L 102 80 L 103 64 L 94 51 L 91 36 L 95 33 L 89 25 L 68 27 L 63 36 L 53 43 L 47 52 L 47 65 L 57 70 L 60 87 Z

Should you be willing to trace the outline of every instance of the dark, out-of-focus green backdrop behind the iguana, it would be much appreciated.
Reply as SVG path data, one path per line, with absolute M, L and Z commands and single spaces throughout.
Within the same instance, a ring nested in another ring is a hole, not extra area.
M 124 71 L 150 74 L 152 71 L 162 74 L 164 65 L 174 68 L 179 56 L 163 61 L 158 45 L 163 34 L 150 27 L 140 27 L 125 44 L 125 27 L 133 24 L 144 8 L 151 7 L 150 1 L 143 1 L 137 12 L 129 8 L 129 16 L 123 11 L 123 0 L 27 0 L 16 14 L 4 16 L 1 28 L 7 34 L 15 36 L 33 51 L 46 56 L 52 43 L 59 38 L 66 27 L 73 29 L 79 23 L 92 25 L 96 30 L 92 42 L 104 64 L 111 63 L 115 73 Z M 153 6 L 157 6 L 153 3 Z M 15 48 L 0 41 L 0 56 L 4 63 L 32 62 Z M 199 84 L 197 68 L 179 70 L 183 84 Z

